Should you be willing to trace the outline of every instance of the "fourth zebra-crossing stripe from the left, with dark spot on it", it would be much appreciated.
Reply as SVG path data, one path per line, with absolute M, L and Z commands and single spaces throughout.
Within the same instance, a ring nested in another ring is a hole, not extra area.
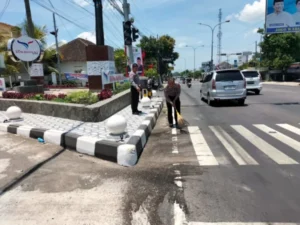
M 294 140 L 293 138 L 290 138 L 286 136 L 285 134 L 282 134 L 266 125 L 263 124 L 257 124 L 254 125 L 256 128 L 260 129 L 261 131 L 269 134 L 273 138 L 277 139 L 278 141 L 281 141 L 282 143 L 290 146 L 291 148 L 295 149 L 297 152 L 300 152 L 300 142 Z

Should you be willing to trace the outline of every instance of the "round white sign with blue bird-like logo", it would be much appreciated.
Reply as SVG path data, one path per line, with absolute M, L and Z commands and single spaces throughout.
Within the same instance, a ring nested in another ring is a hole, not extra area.
M 41 46 L 37 40 L 28 36 L 16 38 L 11 45 L 13 54 L 21 61 L 32 62 L 41 54 Z

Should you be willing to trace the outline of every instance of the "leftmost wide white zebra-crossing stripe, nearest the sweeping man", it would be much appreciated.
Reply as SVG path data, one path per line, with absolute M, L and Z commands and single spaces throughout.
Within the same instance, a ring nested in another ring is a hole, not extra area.
M 193 147 L 200 166 L 217 166 L 218 161 L 207 145 L 199 127 L 188 127 Z

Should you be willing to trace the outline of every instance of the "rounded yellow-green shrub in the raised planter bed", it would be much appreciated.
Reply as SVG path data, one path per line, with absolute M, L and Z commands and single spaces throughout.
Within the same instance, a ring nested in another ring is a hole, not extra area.
M 65 102 L 90 105 L 98 102 L 98 97 L 89 91 L 78 91 L 69 94 Z

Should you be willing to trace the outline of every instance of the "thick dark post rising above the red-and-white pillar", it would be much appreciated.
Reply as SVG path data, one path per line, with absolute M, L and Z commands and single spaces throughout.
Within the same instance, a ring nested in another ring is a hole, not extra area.
M 104 45 L 103 6 L 102 0 L 94 0 L 96 17 L 96 44 Z

